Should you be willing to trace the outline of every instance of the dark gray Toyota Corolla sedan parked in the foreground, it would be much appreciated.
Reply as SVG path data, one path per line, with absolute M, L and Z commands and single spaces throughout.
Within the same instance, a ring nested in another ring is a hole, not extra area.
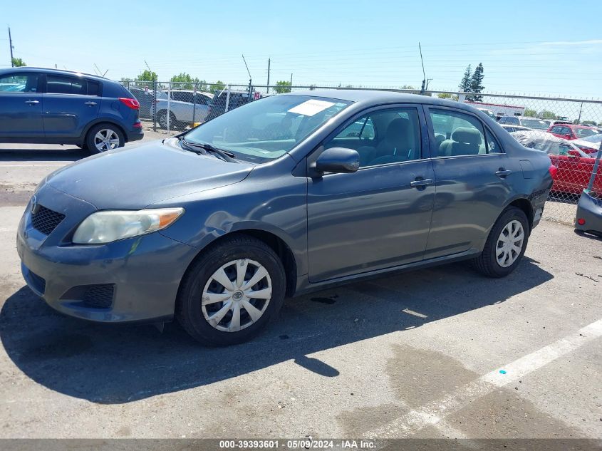
M 175 317 L 227 345 L 259 333 L 285 295 L 462 259 L 510 274 L 550 168 L 462 103 L 286 93 L 48 175 L 17 249 L 28 286 L 58 311 Z

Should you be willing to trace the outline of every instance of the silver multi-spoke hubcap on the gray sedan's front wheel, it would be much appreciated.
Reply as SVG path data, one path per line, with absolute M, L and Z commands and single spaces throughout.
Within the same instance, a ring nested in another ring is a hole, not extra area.
M 204 318 L 218 331 L 237 332 L 261 318 L 271 299 L 271 279 L 257 261 L 229 261 L 203 289 Z

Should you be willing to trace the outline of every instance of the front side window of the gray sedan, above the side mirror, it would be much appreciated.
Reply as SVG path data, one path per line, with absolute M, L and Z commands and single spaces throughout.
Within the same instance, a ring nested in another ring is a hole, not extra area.
M 378 110 L 354 120 L 324 148 L 346 147 L 360 154 L 360 167 L 418 160 L 420 120 L 415 108 Z

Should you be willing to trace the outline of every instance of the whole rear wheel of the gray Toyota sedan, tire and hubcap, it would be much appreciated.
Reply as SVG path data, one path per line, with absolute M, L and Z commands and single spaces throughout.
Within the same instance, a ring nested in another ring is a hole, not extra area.
M 483 252 L 473 260 L 479 272 L 489 277 L 504 277 L 519 266 L 529 240 L 529 221 L 517 207 L 500 214 L 489 232 Z

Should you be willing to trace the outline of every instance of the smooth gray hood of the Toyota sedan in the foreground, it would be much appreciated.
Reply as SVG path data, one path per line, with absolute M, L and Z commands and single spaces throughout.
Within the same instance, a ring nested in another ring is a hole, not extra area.
M 97 209 L 140 209 L 240 182 L 253 166 L 182 150 L 170 138 L 85 158 L 53 172 L 46 183 Z

